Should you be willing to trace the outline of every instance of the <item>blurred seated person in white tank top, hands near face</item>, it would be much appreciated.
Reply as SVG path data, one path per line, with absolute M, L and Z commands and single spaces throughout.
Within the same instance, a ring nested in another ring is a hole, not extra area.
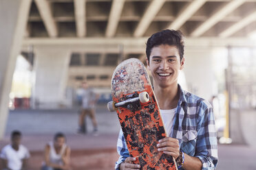
M 45 146 L 45 162 L 41 170 L 68 170 L 70 169 L 70 147 L 66 144 L 65 135 L 58 132 L 54 142 Z

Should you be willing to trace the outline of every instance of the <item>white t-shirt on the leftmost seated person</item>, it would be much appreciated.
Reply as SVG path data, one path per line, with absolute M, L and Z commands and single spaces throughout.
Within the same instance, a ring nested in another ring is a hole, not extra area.
M 22 168 L 22 160 L 30 157 L 30 153 L 26 147 L 19 145 L 19 150 L 16 151 L 12 145 L 3 147 L 0 158 L 8 160 L 7 167 L 12 170 L 20 170 Z

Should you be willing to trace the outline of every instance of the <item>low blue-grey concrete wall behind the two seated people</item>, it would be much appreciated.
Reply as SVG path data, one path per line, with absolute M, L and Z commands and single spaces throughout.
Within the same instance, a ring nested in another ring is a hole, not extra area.
M 12 130 L 23 134 L 75 134 L 78 128 L 78 109 L 73 110 L 13 110 L 10 111 L 6 135 Z M 100 134 L 115 134 L 120 130 L 116 112 L 108 112 L 107 106 L 96 109 L 96 120 Z M 87 130 L 92 132 L 92 121 L 87 117 Z

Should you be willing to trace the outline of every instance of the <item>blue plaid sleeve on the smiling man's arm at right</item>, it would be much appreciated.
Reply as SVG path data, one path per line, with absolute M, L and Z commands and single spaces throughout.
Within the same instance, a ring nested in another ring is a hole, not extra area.
M 213 108 L 209 106 L 202 112 L 204 114 L 202 114 L 198 123 L 198 142 L 195 157 L 201 160 L 203 170 L 215 169 L 217 165 L 217 134 Z

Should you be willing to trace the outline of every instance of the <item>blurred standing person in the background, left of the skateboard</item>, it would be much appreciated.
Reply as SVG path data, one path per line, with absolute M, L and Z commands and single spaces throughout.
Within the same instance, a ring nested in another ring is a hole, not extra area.
M 78 120 L 78 133 L 86 133 L 85 130 L 85 117 L 89 115 L 94 125 L 94 134 L 98 132 L 98 124 L 95 117 L 95 107 L 98 101 L 98 95 L 94 93 L 92 88 L 89 88 L 87 82 L 83 82 L 83 93 L 82 93 L 82 110 Z

